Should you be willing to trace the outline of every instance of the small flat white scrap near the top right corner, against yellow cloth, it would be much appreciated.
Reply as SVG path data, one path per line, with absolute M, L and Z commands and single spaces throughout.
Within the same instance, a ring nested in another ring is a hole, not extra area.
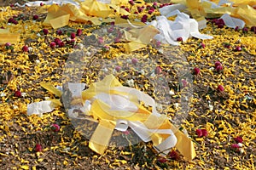
M 243 20 L 231 17 L 230 14 L 223 14 L 220 18 L 224 20 L 225 25 L 230 28 L 236 28 L 236 26 L 243 28 L 245 26 L 245 22 Z

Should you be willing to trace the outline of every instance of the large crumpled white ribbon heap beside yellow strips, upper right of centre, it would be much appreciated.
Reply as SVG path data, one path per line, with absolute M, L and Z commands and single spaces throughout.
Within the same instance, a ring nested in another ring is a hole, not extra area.
M 160 8 L 160 12 L 161 11 L 162 10 Z M 173 10 L 171 13 L 166 13 L 165 7 L 163 11 L 166 16 L 158 16 L 156 17 L 156 20 L 149 23 L 149 25 L 154 26 L 160 31 L 160 34 L 157 34 L 154 39 L 163 43 L 179 45 L 177 37 L 182 37 L 184 42 L 186 42 L 189 37 L 196 37 L 199 39 L 213 38 L 212 36 L 201 34 L 198 31 L 198 22 L 195 19 L 190 19 L 188 14 L 181 13 L 177 9 Z M 177 17 L 174 21 L 166 18 L 176 14 Z

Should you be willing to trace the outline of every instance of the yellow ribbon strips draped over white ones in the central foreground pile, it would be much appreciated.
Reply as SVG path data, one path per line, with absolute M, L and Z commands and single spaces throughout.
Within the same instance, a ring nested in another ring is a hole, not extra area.
M 121 84 L 119 81 L 113 77 L 113 75 L 110 75 L 105 77 L 100 82 L 92 83 L 90 88 L 83 91 L 82 98 L 91 99 L 94 98 L 97 94 L 102 93 L 124 95 L 125 92 L 113 90 L 120 86 Z M 128 92 L 126 92 L 126 94 L 129 95 Z M 101 99 L 93 100 L 88 115 L 93 116 L 93 118 L 97 120 L 99 124 L 90 139 L 90 149 L 96 151 L 99 154 L 104 153 L 108 147 L 113 129 L 116 126 L 116 122 L 121 119 L 131 122 L 140 122 L 144 127 L 147 127 L 147 129 L 149 129 L 151 132 L 149 133 L 150 140 L 153 141 L 154 146 L 163 143 L 170 137 L 170 133 L 160 133 L 161 130 L 163 130 L 163 132 L 165 130 L 172 130 L 177 138 L 177 150 L 183 154 L 186 160 L 192 161 L 192 159 L 195 157 L 195 148 L 189 137 L 179 131 L 177 127 L 174 127 L 166 116 L 156 116 L 145 109 L 143 105 L 138 105 L 137 103 L 135 103 L 135 105 L 137 105 L 138 109 L 134 112 L 113 111 L 111 110 L 110 105 L 104 103 Z M 104 138 L 102 138 L 102 136 Z

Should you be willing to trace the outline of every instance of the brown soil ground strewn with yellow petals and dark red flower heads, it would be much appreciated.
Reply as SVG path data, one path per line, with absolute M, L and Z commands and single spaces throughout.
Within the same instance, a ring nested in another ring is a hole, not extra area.
M 184 161 L 175 148 L 167 156 L 159 156 L 150 142 L 141 141 L 131 146 L 109 147 L 105 154 L 98 155 L 88 147 L 93 123 L 88 124 L 87 133 L 82 135 L 73 127 L 64 108 L 39 117 L 27 116 L 26 105 L 58 99 L 39 83 L 61 86 L 67 59 L 79 55 L 80 50 L 90 52 L 84 46 L 86 42 L 108 40 L 108 35 L 102 37 L 102 32 L 97 31 L 108 24 L 70 22 L 60 29 L 44 30 L 46 14 L 37 14 L 40 7 L 4 8 L 0 27 L 20 32 L 20 42 L 0 47 L 1 169 L 255 168 L 256 34 L 250 29 L 218 28 L 207 20 L 207 27 L 201 32 L 212 35 L 211 40 L 191 37 L 180 42 L 178 48 L 148 45 L 128 54 L 125 42 L 98 48 L 82 68 L 81 82 L 88 88 L 90 83 L 113 73 L 124 86 L 153 96 L 162 104 L 158 111 L 191 137 L 196 157 L 191 162 Z M 154 11 L 148 17 L 157 14 Z M 110 24 L 108 28 L 112 28 Z M 162 53 L 166 48 L 173 48 L 170 56 Z M 192 82 L 180 78 L 183 68 L 178 65 L 189 68 Z M 188 115 L 175 120 L 182 117 L 178 115 L 183 102 L 182 88 L 189 89 L 193 99 L 186 110 Z M 170 98 L 162 98 L 166 89 Z M 129 135 L 135 136 L 132 132 L 115 132 L 112 145 L 119 140 L 137 140 Z

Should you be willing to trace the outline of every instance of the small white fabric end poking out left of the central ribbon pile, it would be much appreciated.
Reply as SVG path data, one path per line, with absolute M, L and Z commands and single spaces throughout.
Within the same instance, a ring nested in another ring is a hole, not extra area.
M 55 109 L 55 105 L 53 105 L 52 101 L 45 100 L 40 102 L 35 102 L 27 105 L 27 115 L 31 116 L 33 114 L 38 116 L 43 116 L 43 113 L 48 113 Z

